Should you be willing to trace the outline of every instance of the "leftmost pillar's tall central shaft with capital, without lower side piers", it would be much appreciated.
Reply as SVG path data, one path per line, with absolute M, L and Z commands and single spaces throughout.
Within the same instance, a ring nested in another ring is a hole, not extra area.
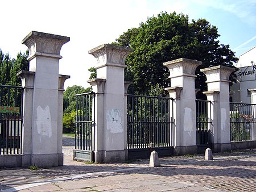
M 69 37 L 32 31 L 23 40 L 29 51 L 30 72 L 35 72 L 32 98 L 31 165 L 63 165 L 60 147 L 59 60 Z M 25 77 L 26 78 L 26 77 Z M 64 83 L 64 82 L 63 82 Z M 24 122 L 26 119 L 24 119 Z M 61 125 L 62 126 L 62 125 Z M 62 132 L 61 132 L 62 133 Z

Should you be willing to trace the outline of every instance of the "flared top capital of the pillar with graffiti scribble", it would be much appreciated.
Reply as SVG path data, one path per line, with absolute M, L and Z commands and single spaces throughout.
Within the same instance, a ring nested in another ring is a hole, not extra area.
M 102 44 L 90 50 L 88 53 L 97 59 L 97 69 L 107 65 L 126 68 L 125 59 L 131 52 L 133 52 L 133 49 L 112 44 Z

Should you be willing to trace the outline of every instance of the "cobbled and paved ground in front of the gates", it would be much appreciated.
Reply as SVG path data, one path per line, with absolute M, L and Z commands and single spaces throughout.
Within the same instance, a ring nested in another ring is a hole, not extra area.
M 149 159 L 123 164 L 73 161 L 74 140 L 63 138 L 64 166 L 2 168 L 0 191 L 256 191 L 256 149 Z

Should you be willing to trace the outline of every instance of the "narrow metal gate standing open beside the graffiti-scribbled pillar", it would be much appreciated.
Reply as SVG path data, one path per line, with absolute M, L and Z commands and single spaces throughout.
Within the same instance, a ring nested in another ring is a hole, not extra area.
M 94 93 L 77 94 L 74 160 L 94 161 Z

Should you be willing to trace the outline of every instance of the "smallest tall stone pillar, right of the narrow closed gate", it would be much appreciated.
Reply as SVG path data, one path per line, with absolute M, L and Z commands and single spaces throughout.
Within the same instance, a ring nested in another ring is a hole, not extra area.
M 229 116 L 229 76 L 234 68 L 227 66 L 213 66 L 201 69 L 207 76 L 208 91 L 204 94 L 212 101 L 213 120 L 213 151 L 231 149 L 230 144 L 230 116 Z

